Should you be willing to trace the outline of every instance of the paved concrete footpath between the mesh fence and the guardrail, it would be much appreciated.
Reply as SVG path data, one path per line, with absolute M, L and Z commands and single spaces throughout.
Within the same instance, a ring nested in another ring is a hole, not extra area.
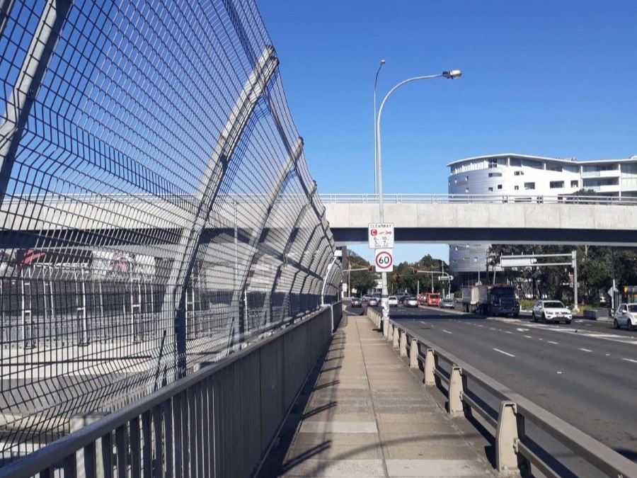
M 278 476 L 495 476 L 418 377 L 366 316 L 344 315 Z

